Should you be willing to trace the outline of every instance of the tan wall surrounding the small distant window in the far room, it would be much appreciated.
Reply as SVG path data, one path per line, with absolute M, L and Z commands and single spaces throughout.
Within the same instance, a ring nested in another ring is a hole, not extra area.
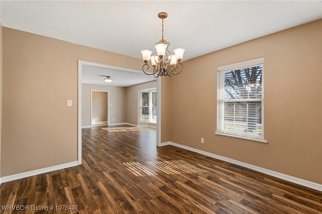
M 156 126 L 155 124 L 152 124 L 152 123 L 139 123 L 138 91 L 143 89 L 148 89 L 148 88 L 156 88 L 156 80 L 127 87 L 126 123 L 134 124 L 134 125 Z M 135 121 L 133 121 L 133 119 Z

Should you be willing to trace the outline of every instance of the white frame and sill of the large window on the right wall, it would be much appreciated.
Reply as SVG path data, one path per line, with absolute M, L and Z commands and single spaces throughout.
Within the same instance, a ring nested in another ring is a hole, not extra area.
M 231 99 L 231 100 L 224 98 L 225 86 L 224 86 L 224 82 L 222 81 L 224 81 L 225 72 L 231 71 L 231 70 L 243 69 L 243 68 L 250 68 L 250 67 L 255 67 L 260 65 L 262 65 L 261 98 L 247 98 L 247 99 L 243 98 L 243 99 Z M 238 101 L 246 101 L 248 103 L 251 101 L 261 101 L 261 123 L 262 123 L 261 135 L 221 129 L 222 125 L 220 124 L 223 123 L 224 121 L 224 103 L 225 102 L 237 103 Z M 264 140 L 264 57 L 217 67 L 217 127 L 216 127 L 215 134 L 267 143 L 267 141 Z

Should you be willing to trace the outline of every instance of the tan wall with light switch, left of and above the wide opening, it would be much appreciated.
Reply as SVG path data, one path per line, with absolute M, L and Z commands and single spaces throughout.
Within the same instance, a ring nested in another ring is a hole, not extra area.
M 137 58 L 3 28 L 2 177 L 77 160 L 77 60 L 142 66 Z

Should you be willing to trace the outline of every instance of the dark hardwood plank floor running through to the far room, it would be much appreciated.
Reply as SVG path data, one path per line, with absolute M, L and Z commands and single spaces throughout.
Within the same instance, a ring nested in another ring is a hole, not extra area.
M 156 147 L 154 129 L 83 129 L 82 154 L 81 166 L 3 183 L 1 213 L 322 213 L 322 192 Z

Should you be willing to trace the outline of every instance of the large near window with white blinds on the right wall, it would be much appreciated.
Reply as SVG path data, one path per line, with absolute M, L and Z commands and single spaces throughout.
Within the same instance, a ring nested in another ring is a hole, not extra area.
M 217 134 L 264 139 L 264 58 L 218 67 Z

